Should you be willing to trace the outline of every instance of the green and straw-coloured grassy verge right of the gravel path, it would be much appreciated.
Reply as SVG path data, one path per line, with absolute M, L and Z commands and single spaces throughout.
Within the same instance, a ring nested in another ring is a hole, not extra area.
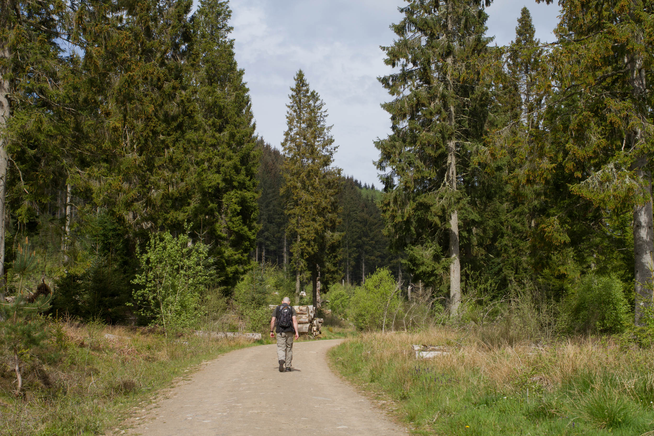
M 449 354 L 417 360 L 411 344 Z M 485 344 L 476 333 L 368 333 L 332 349 L 342 375 L 425 435 L 642 435 L 654 430 L 654 351 L 610 339 Z M 653 433 L 654 434 L 654 433 Z

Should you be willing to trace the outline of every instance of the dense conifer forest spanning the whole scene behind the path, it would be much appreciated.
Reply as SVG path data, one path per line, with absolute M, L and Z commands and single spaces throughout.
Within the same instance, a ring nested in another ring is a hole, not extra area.
M 598 325 L 579 290 L 606 279 L 613 291 L 587 294 L 643 324 L 651 5 L 562 3 L 552 44 L 523 8 L 500 47 L 489 3 L 400 9 L 383 48 L 395 69 L 379 79 L 392 122 L 375 142 L 379 190 L 334 165 L 329 102 L 301 70 L 283 143 L 255 135 L 226 1 L 3 10 L 4 296 L 45 284 L 54 316 L 150 324 L 156 304 L 137 295 L 152 241 L 184 237 L 207 270 L 192 310 L 232 299 L 257 269 L 282 272 L 298 301 L 311 286 L 318 304 L 388 269 L 397 295 L 429 310 L 468 316 L 528 295 L 534 310 L 588 312 L 574 328 Z

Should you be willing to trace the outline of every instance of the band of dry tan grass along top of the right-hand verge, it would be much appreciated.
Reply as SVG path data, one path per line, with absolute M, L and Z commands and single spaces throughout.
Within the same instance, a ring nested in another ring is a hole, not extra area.
M 438 372 L 463 376 L 479 371 L 485 384 L 497 390 L 515 390 L 515 380 L 528 373 L 545 386 L 560 386 L 580 373 L 607 373 L 623 379 L 638 362 L 640 369 L 654 372 L 654 350 L 625 348 L 620 341 L 576 337 L 545 346 L 522 343 L 490 347 L 478 331 L 433 328 L 419 333 L 364 333 L 360 340 L 375 344 L 375 358 L 380 365 L 392 360 L 415 365 L 411 344 L 447 346 L 449 354 L 422 360 L 420 363 Z M 625 386 L 634 380 L 626 378 Z

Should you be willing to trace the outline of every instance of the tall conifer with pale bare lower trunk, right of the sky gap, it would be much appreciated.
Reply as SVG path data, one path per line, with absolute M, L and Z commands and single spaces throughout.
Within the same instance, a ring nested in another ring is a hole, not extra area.
M 387 231 L 397 248 L 419 248 L 431 258 L 427 263 L 441 264 L 439 229 L 449 227 L 452 314 L 461 299 L 458 212 L 466 193 L 459 192 L 459 180 L 487 114 L 488 93 L 480 84 L 480 58 L 489 42 L 483 6 L 481 0 L 411 1 L 400 9 L 400 24 L 392 26 L 398 40 L 384 48 L 385 63 L 400 69 L 381 78 L 395 97 L 383 105 L 393 133 L 375 143 L 381 152 L 377 167 L 387 171 Z

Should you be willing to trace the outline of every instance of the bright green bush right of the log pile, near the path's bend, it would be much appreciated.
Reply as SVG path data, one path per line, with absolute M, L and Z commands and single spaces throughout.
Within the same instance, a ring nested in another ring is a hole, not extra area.
M 354 326 L 360 330 L 381 329 L 388 307 L 398 306 L 397 283 L 388 268 L 377 269 L 351 298 Z

